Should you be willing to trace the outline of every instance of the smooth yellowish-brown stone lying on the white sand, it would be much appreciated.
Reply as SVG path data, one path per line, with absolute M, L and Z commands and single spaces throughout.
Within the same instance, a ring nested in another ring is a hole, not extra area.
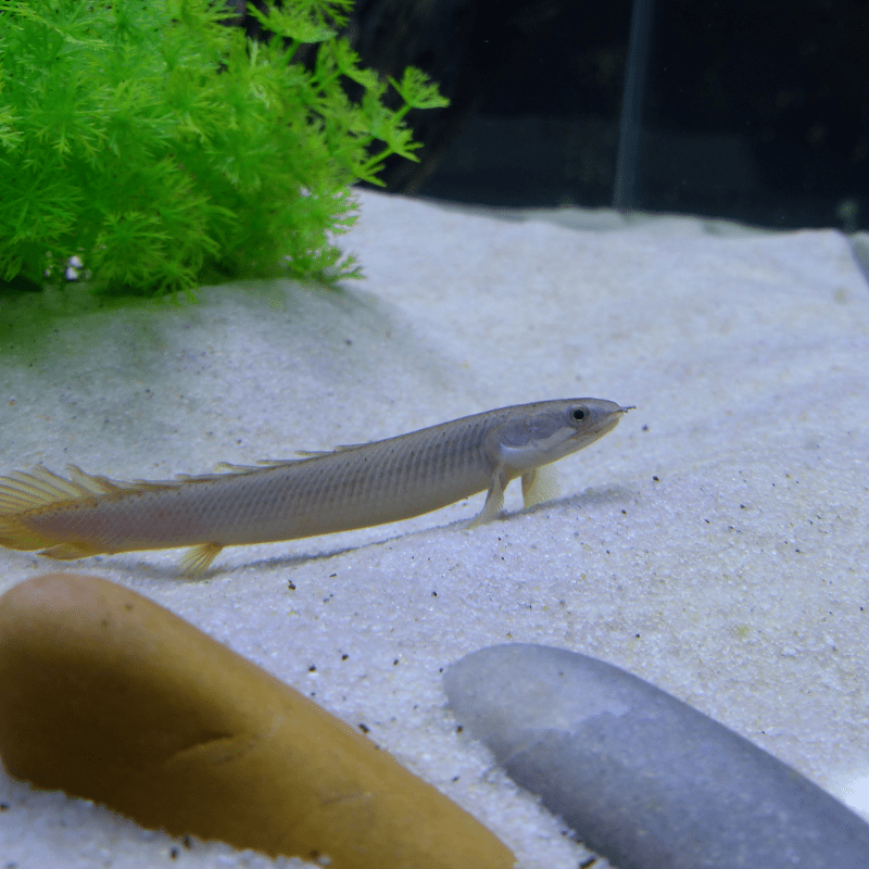
M 482 824 L 355 729 L 122 585 L 0 597 L 0 756 L 144 827 L 332 869 L 509 869 Z

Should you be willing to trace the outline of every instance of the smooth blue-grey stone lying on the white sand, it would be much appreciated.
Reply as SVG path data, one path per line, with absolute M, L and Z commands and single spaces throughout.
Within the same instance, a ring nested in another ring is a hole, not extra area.
M 500 645 L 444 675 L 458 721 L 619 869 L 869 867 L 869 824 L 772 755 L 629 672 Z

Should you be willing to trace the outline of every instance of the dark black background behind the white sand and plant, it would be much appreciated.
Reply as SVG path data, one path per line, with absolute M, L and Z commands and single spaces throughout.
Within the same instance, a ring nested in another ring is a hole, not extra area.
M 410 116 L 388 189 L 499 206 L 613 203 L 630 0 L 357 0 L 363 65 L 452 105 Z M 631 207 L 869 228 L 869 2 L 656 0 Z

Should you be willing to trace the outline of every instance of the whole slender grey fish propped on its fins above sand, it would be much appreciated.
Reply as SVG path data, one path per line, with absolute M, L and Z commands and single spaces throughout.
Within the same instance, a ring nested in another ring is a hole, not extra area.
M 502 407 L 329 453 L 224 474 L 119 482 L 67 466 L 0 477 L 0 544 L 54 558 L 193 546 L 188 572 L 229 545 L 398 521 L 488 490 L 480 524 L 522 478 L 525 505 L 553 494 L 544 467 L 610 431 L 630 408 L 601 399 Z

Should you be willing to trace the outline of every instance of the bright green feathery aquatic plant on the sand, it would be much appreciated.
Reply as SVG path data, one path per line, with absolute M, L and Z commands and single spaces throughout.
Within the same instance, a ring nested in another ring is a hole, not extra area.
M 335 243 L 350 185 L 414 160 L 407 111 L 445 100 L 408 68 L 387 108 L 336 35 L 351 5 L 251 5 L 260 43 L 219 1 L 0 0 L 0 281 L 56 282 L 71 259 L 102 294 L 357 275 Z

